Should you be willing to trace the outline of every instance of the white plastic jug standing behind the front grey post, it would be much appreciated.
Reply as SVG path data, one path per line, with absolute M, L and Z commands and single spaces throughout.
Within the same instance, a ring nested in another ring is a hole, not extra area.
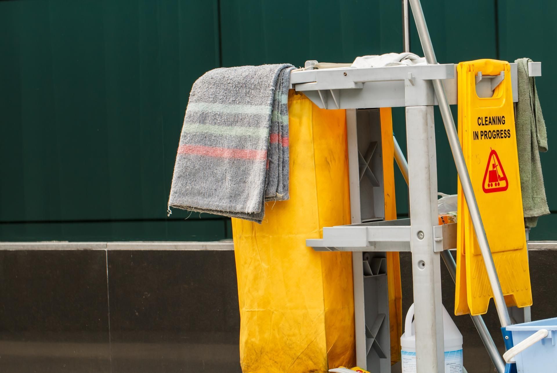
M 402 373 L 416 373 L 416 334 L 414 333 L 414 304 L 408 309 L 404 334 L 400 337 Z M 418 320 L 419 322 L 419 320 Z M 462 373 L 462 334 L 443 307 L 443 337 L 445 344 L 445 373 Z

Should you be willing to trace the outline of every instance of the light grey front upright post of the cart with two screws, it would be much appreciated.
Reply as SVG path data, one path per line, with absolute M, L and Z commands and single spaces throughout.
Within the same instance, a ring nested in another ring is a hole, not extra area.
M 412 279 L 418 373 L 444 373 L 439 253 L 433 251 L 437 217 L 437 160 L 433 106 L 406 108 Z

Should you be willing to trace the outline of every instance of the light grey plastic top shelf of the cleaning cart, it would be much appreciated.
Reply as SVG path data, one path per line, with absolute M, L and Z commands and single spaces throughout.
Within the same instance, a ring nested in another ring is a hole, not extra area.
M 517 66 L 511 63 L 511 84 L 513 101 L 518 100 Z M 330 109 L 371 107 L 377 104 L 383 106 L 408 106 L 416 104 L 437 104 L 434 95 L 426 99 L 414 99 L 404 94 L 404 87 L 425 89 L 432 91 L 428 80 L 444 80 L 449 103 L 456 104 L 457 79 L 456 64 L 438 65 L 402 65 L 387 67 L 351 67 L 348 64 L 319 64 L 317 61 L 307 61 L 306 67 L 292 70 L 290 74 L 291 88 L 306 93 L 318 106 Z M 327 68 L 323 68 L 327 67 Z M 530 76 L 541 76 L 541 62 L 528 64 Z M 488 76 L 478 74 L 476 79 L 478 92 L 492 91 L 502 80 L 501 75 Z M 423 83 L 420 83 L 423 82 Z M 480 83 L 481 82 L 481 83 Z M 424 86 L 426 84 L 427 86 Z M 364 86 L 366 88 L 364 88 Z M 338 91 L 340 90 L 340 91 Z M 355 90 L 355 91 L 353 91 Z M 361 94 L 356 93 L 361 90 Z M 353 93 L 342 95 L 345 91 Z M 408 91 L 408 94 L 414 95 Z M 313 93 L 312 93 L 313 92 Z M 382 94 L 388 98 L 380 98 Z M 365 99 L 364 99 L 364 96 Z M 421 96 L 421 94 L 417 94 Z M 328 101 L 331 105 L 328 105 Z

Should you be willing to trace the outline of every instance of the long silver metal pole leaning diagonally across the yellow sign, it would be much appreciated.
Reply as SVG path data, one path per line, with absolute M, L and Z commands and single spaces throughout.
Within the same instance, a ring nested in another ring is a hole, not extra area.
M 427 30 L 426 19 L 423 15 L 422 5 L 419 0 L 409 1 L 410 6 L 412 7 L 412 13 L 414 14 L 414 21 L 416 21 L 418 35 L 422 43 L 422 49 L 424 54 L 426 55 L 427 63 L 429 65 L 436 65 L 437 59 L 435 57 L 435 52 L 433 51 L 433 45 L 431 43 L 429 31 Z M 495 264 L 491 256 L 491 250 L 489 248 L 489 243 L 487 242 L 486 232 L 483 229 L 480 209 L 478 209 L 478 204 L 476 202 L 476 197 L 474 196 L 474 190 L 472 188 L 470 176 L 468 175 L 468 170 L 466 168 L 466 162 L 462 154 L 460 142 L 458 141 L 455 121 L 452 117 L 451 108 L 449 108 L 443 81 L 435 79 L 432 80 L 432 83 L 435 94 L 437 96 L 437 101 L 439 103 L 439 110 L 441 111 L 441 117 L 443 118 L 445 131 L 447 132 L 449 145 L 451 146 L 453 158 L 455 158 L 456 169 L 458 172 L 458 177 L 460 177 L 462 191 L 464 192 L 464 196 L 466 198 L 468 210 L 470 210 L 470 217 L 472 219 L 474 231 L 476 232 L 478 244 L 480 245 L 480 250 L 482 252 L 483 263 L 485 263 L 487 277 L 489 278 L 489 282 L 491 284 L 495 307 L 497 308 L 497 315 L 499 316 L 501 326 L 506 327 L 511 324 L 509 311 L 507 310 L 505 298 L 501 290 L 501 284 L 499 283 L 499 278 L 497 277 L 497 270 L 495 269 Z

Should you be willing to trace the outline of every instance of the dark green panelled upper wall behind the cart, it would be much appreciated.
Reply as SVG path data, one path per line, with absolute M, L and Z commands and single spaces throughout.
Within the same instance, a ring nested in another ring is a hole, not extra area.
M 0 1 L 0 240 L 218 240 L 227 219 L 173 210 L 167 197 L 189 90 L 218 66 L 350 62 L 400 51 L 399 0 Z M 544 62 L 538 79 L 557 205 L 548 45 L 557 4 L 423 1 L 437 58 Z M 411 49 L 421 54 L 412 24 Z M 404 111 L 394 111 L 404 142 Z M 439 191 L 456 172 L 436 114 Z M 553 159 L 553 161 L 552 161 Z M 404 181 L 397 204 L 407 214 Z M 557 211 L 556 211 L 557 212 Z M 531 239 L 557 239 L 543 217 Z

